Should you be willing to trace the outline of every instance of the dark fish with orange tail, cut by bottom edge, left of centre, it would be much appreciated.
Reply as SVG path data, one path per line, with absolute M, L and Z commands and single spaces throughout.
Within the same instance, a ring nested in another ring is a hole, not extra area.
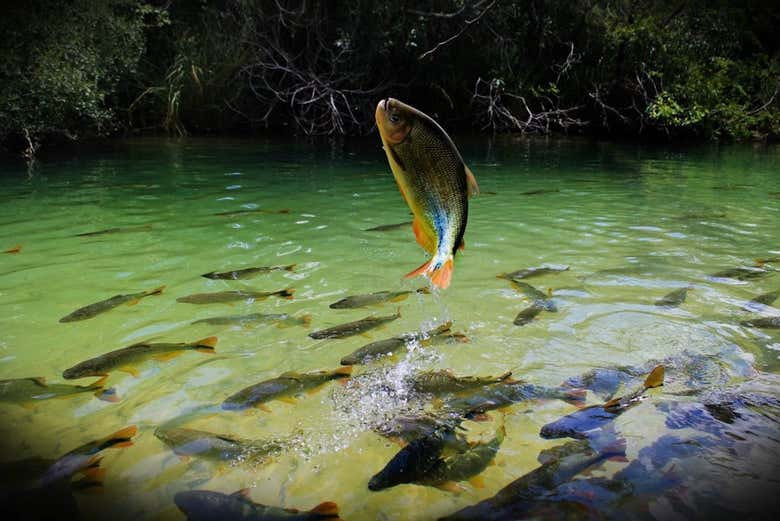
M 189 521 L 316 521 L 339 520 L 336 503 L 320 503 L 311 510 L 301 512 L 293 508 L 280 508 L 255 503 L 249 497 L 249 489 L 233 494 L 211 490 L 185 490 L 177 492 L 173 501 Z

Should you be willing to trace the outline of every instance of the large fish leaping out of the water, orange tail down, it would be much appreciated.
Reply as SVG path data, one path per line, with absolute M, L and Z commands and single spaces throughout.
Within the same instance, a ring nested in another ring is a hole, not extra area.
M 375 116 L 390 169 L 414 214 L 417 243 L 432 255 L 406 276 L 428 275 L 435 286 L 447 288 L 455 254 L 464 246 L 468 197 L 478 193 L 477 181 L 429 116 L 393 98 L 380 101 Z

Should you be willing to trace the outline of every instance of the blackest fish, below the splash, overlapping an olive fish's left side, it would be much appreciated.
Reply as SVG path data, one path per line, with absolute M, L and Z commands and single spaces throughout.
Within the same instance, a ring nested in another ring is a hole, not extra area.
M 376 492 L 423 479 L 440 461 L 444 438 L 444 434 L 437 431 L 413 440 L 371 478 L 368 489 Z

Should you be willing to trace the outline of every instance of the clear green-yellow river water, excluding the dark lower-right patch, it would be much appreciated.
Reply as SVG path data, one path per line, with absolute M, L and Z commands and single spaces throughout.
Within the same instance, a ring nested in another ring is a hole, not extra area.
M 537 467 L 541 449 L 565 441 L 543 440 L 539 429 L 574 408 L 551 400 L 505 409 L 506 440 L 496 465 L 482 474 L 484 487 L 464 482 L 459 493 L 418 485 L 370 492 L 369 478 L 398 446 L 368 426 L 419 401 L 402 388 L 404 377 L 416 371 L 511 370 L 517 378 L 556 386 L 594 367 L 642 364 L 687 350 L 727 353 L 723 356 L 738 364 L 752 365 L 764 373 L 763 391 L 780 395 L 771 378 L 780 371 L 780 334 L 740 324 L 759 316 L 741 306 L 780 289 L 780 275 L 750 281 L 709 276 L 780 256 L 780 149 L 462 142 L 485 193 L 471 202 L 466 249 L 456 259 L 452 286 L 441 294 L 355 310 L 328 305 L 347 295 L 426 284 L 402 279 L 425 260 L 411 227 L 363 231 L 410 219 L 378 138 L 337 147 L 135 141 L 43 160 L 30 172 L 23 165 L 2 166 L 0 251 L 22 249 L 0 254 L 0 379 L 44 376 L 63 382 L 64 369 L 142 340 L 219 338 L 216 355 L 187 352 L 170 361 L 149 360 L 138 364 L 136 377 L 113 372 L 108 385 L 121 398 L 116 403 L 89 393 L 26 407 L 0 401 L 3 459 L 56 458 L 137 425 L 133 447 L 104 453 L 104 493 L 76 495 L 86 518 L 112 512 L 120 519 L 183 519 L 172 501 L 177 491 L 249 487 L 252 499 L 265 504 L 308 509 L 335 501 L 345 520 L 424 520 L 490 497 Z M 539 190 L 544 192 L 529 193 Z M 289 212 L 215 215 L 252 209 Z M 75 237 L 114 227 L 141 228 Z M 292 263 L 295 271 L 249 280 L 200 277 Z M 543 264 L 570 266 L 527 281 L 550 288 L 558 311 L 515 326 L 515 315 L 529 301 L 496 275 Z M 769 267 L 780 269 L 780 263 Z M 161 285 L 162 295 L 136 305 L 58 322 L 92 302 Z M 679 307 L 653 304 L 685 286 L 691 290 Z M 176 302 L 193 293 L 288 287 L 295 290 L 291 300 Z M 307 336 L 371 313 L 391 314 L 398 306 L 400 319 L 367 335 L 325 341 Z M 191 324 L 257 312 L 310 315 L 311 327 Z M 768 307 L 760 315 L 778 313 Z M 341 357 L 371 340 L 445 320 L 470 343 L 412 349 L 391 362 L 354 368 L 353 375 L 368 374 L 366 381 L 382 381 L 382 389 L 394 392 L 329 384 L 295 405 L 271 402 L 270 413 L 213 407 L 261 380 L 285 371 L 334 369 Z M 735 373 L 728 385 L 747 378 Z M 656 406 L 664 399 L 656 393 L 616 421 L 629 460 L 670 433 Z M 589 394 L 588 401 L 599 399 Z M 492 417 L 467 422 L 469 436 L 490 437 L 501 414 Z M 294 435 L 297 441 L 264 465 L 182 459 L 153 434 L 173 420 L 243 438 Z M 697 511 L 698 502 L 717 496 L 733 511 L 749 512 L 754 505 L 740 491 L 776 488 L 775 420 L 767 420 L 769 436 L 747 438 L 740 446 L 752 452 L 713 456 L 712 468 L 720 473 L 707 467 L 705 478 L 687 484 L 700 490 L 689 494 L 692 504 L 686 508 Z M 595 472 L 609 476 L 625 465 L 610 461 Z M 724 492 L 724 486 L 734 492 Z M 686 514 L 661 493 L 645 499 L 652 516 Z

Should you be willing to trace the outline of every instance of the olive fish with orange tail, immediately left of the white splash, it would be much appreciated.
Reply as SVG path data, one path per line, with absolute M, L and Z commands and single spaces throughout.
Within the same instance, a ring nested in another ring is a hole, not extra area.
M 331 380 L 349 378 L 352 367 L 339 367 L 332 371 L 317 371 L 314 373 L 296 373 L 288 371 L 276 378 L 264 380 L 230 395 L 222 402 L 222 408 L 230 411 L 240 411 L 257 407 L 271 412 L 265 402 L 282 400 L 295 402 L 295 397 L 301 393 L 314 393 Z

